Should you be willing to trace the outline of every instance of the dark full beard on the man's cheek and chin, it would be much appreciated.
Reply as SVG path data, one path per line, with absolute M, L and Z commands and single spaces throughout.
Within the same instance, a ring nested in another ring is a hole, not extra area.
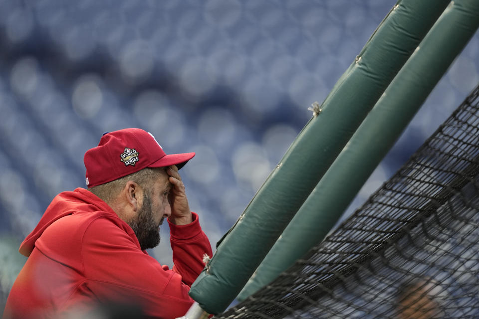
M 153 211 L 151 209 L 150 193 L 145 191 L 143 195 L 143 203 L 138 210 L 138 214 L 128 223 L 135 232 L 136 238 L 140 243 L 141 250 L 154 248 L 160 243 L 160 224 L 155 224 Z

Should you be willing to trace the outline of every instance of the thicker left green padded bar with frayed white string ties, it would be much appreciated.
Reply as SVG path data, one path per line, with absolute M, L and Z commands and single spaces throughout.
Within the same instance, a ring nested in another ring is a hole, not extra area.
M 224 238 L 190 295 L 209 313 L 235 299 L 449 0 L 402 0 L 366 43 Z

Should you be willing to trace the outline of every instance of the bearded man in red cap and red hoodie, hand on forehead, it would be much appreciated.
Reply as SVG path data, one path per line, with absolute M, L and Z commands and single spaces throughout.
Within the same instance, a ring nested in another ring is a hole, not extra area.
M 85 153 L 88 189 L 58 194 L 21 244 L 28 259 L 4 317 L 58 318 L 109 303 L 136 305 L 153 318 L 185 315 L 190 286 L 212 256 L 178 174 L 194 156 L 167 155 L 140 129 L 104 134 Z M 145 251 L 159 244 L 164 218 L 172 270 Z

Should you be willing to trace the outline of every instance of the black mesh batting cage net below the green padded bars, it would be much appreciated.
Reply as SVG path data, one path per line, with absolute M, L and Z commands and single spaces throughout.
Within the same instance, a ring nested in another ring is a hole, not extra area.
M 334 233 L 219 318 L 477 318 L 478 173 L 477 87 Z

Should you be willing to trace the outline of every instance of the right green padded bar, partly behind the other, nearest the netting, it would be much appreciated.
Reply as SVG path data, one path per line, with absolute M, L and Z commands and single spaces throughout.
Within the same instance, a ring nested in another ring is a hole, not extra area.
M 478 26 L 479 1 L 451 2 L 306 199 L 238 300 L 269 284 L 327 235 Z

